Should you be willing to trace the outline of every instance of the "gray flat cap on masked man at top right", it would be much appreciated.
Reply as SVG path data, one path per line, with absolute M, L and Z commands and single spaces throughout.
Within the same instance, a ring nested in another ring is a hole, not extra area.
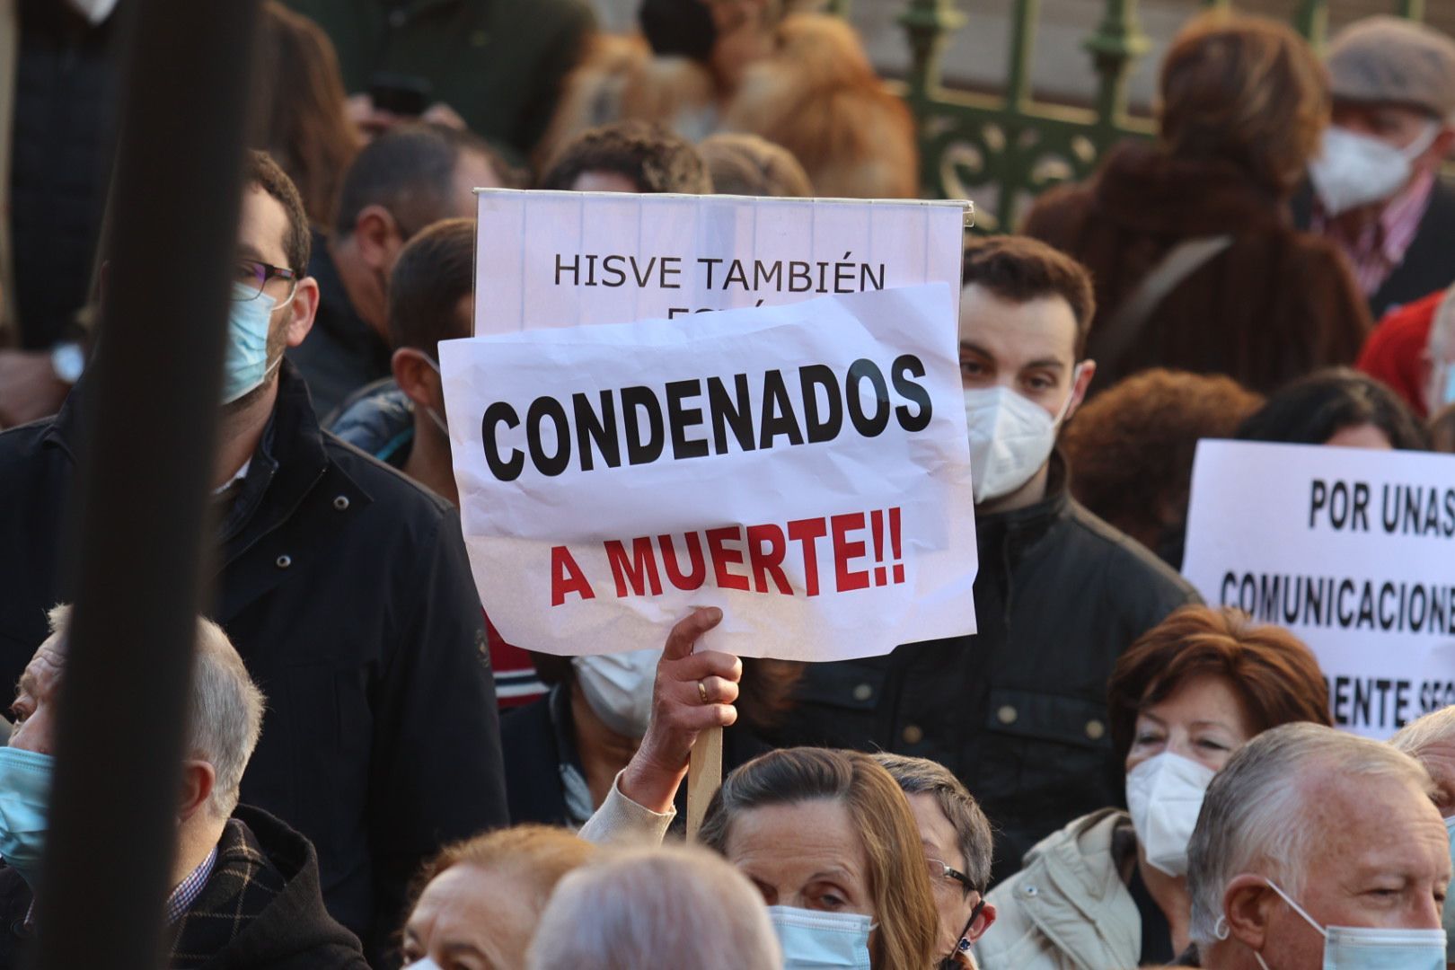
M 1394 16 L 1356 20 L 1328 45 L 1334 97 L 1414 105 L 1455 119 L 1455 41 Z

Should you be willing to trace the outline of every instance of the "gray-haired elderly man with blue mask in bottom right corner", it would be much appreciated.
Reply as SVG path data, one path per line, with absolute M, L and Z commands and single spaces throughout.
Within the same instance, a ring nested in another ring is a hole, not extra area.
M 1254 737 L 1208 787 L 1187 849 L 1202 966 L 1445 967 L 1433 793 L 1388 745 L 1308 723 Z

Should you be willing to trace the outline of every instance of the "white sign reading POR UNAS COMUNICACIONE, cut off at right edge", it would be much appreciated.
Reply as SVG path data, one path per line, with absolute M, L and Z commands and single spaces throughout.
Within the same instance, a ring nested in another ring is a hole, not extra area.
M 1203 441 L 1183 573 L 1298 634 L 1340 727 L 1455 702 L 1455 457 Z

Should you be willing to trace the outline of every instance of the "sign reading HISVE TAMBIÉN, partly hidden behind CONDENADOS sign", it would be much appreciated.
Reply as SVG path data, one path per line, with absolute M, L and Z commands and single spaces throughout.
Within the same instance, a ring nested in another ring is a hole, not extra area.
M 480 189 L 474 333 L 681 317 L 943 282 L 965 202 Z

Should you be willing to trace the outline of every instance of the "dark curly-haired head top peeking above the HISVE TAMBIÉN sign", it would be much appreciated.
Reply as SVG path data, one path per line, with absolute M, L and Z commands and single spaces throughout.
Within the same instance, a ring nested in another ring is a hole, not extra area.
M 713 180 L 691 143 L 662 125 L 618 121 L 592 128 L 562 148 L 538 188 L 707 195 Z

